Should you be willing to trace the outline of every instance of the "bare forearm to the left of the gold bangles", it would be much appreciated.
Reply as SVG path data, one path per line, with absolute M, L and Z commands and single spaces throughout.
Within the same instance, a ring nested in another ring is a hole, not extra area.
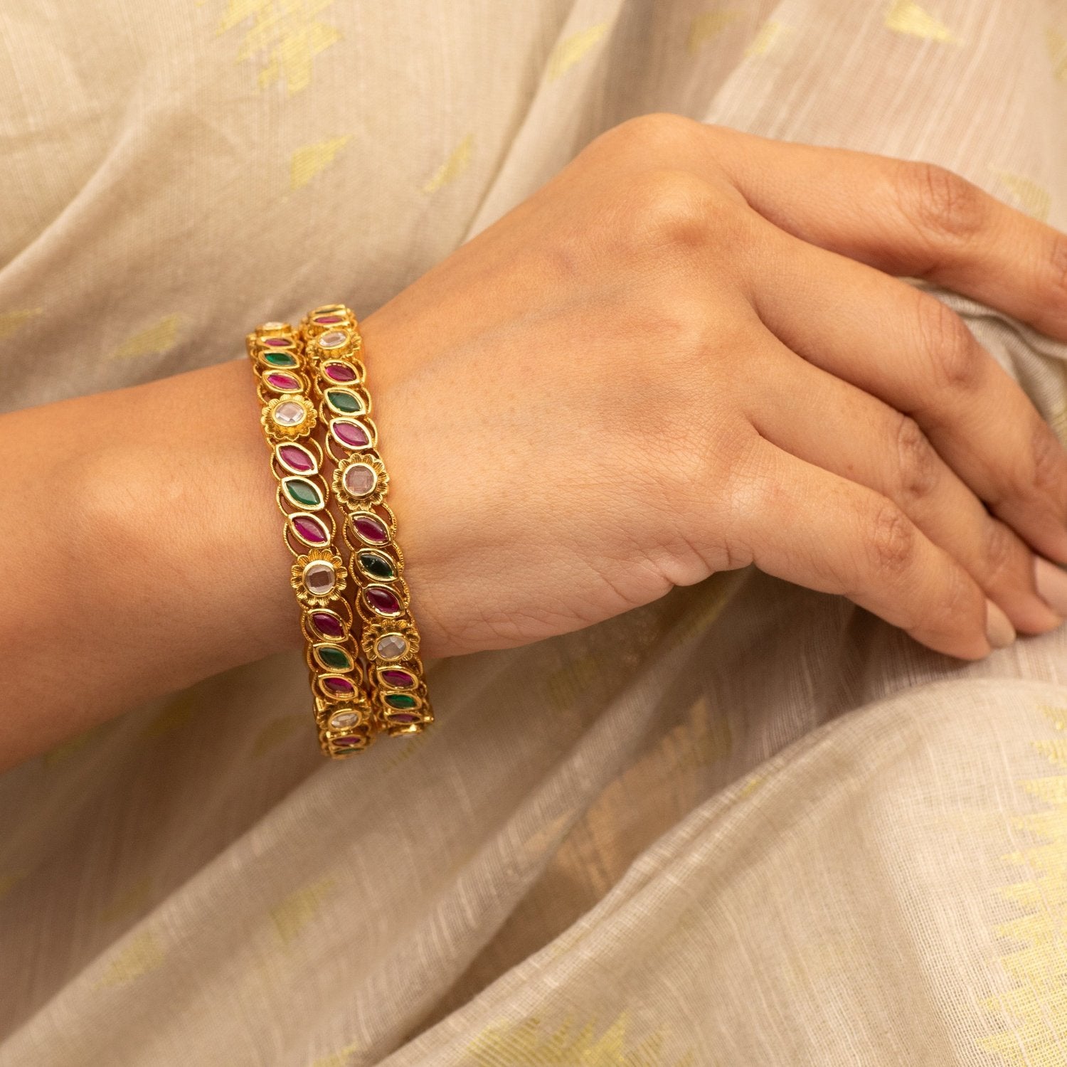
M 0 449 L 0 768 L 299 647 L 244 360 L 4 415 Z

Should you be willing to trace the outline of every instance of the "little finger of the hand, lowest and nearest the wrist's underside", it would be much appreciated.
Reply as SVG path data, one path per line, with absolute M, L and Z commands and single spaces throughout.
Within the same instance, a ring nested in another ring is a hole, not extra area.
M 937 652 L 988 655 L 1015 635 L 1004 614 L 890 499 L 760 442 L 759 481 L 740 501 L 752 561 L 776 577 L 841 593 Z

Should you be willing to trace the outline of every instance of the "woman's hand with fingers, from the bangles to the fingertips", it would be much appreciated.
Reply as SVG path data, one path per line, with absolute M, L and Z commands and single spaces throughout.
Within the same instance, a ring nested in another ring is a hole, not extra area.
M 935 166 L 674 115 L 601 136 L 369 316 L 426 653 L 752 562 L 964 658 L 1014 636 L 987 598 L 1058 624 L 1032 547 L 1067 562 L 1067 453 L 891 274 L 1067 338 L 1062 234 Z

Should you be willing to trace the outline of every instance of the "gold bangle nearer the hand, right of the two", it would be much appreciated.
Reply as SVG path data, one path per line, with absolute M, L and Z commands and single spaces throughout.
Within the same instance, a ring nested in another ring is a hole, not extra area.
M 389 735 L 421 733 L 433 712 L 396 516 L 385 499 L 389 479 L 377 451 L 359 323 L 344 304 L 330 304 L 305 316 L 300 329 L 327 452 L 336 464 L 333 491 L 345 514 L 341 531 L 364 624 L 370 703 Z

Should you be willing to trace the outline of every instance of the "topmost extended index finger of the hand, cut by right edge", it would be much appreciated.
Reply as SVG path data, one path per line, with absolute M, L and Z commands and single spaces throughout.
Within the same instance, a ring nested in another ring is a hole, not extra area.
M 1067 338 L 1067 235 L 930 163 L 704 128 L 714 161 L 787 233 Z

